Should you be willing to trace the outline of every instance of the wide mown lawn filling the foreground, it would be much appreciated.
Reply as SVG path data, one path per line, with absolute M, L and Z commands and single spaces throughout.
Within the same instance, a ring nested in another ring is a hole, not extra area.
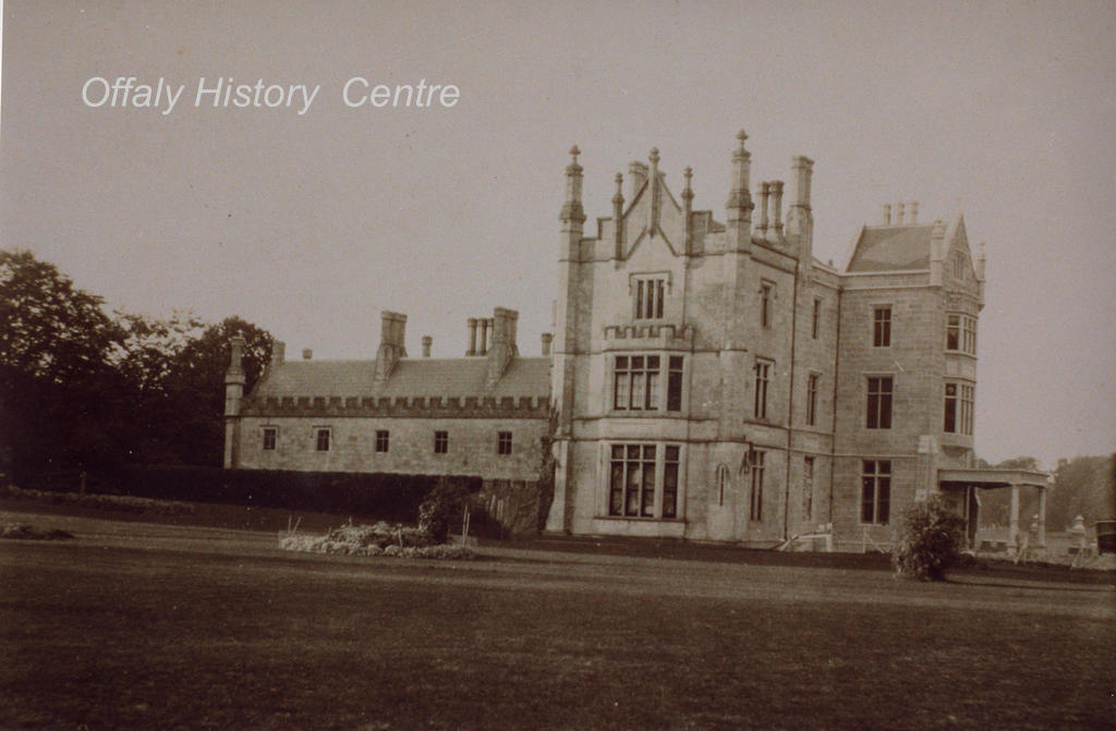
M 16 517 L 0 729 L 1116 727 L 1110 584 Z

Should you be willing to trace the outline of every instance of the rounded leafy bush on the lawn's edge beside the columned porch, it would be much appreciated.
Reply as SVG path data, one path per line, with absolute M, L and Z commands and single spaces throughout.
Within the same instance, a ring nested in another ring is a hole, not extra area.
M 903 514 L 892 560 L 901 576 L 941 581 L 964 547 L 965 521 L 941 497 L 915 502 Z

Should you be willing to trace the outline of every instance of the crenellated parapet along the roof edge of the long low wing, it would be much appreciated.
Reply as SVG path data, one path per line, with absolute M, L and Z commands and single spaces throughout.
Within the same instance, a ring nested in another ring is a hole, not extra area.
M 244 402 L 244 416 L 393 419 L 545 419 L 547 396 L 267 396 Z

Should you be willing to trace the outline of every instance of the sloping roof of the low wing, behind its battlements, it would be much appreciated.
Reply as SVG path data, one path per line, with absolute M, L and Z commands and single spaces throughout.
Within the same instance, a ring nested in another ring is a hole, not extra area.
M 488 358 L 402 358 L 384 388 L 376 388 L 375 360 L 289 360 L 268 368 L 252 392 L 267 396 L 533 396 L 550 394 L 549 358 L 513 358 L 492 389 Z

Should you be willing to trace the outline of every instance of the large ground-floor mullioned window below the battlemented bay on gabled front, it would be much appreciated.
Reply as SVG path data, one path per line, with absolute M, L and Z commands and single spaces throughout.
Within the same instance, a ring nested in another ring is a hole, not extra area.
M 608 514 L 677 517 L 681 452 L 677 444 L 612 444 Z

